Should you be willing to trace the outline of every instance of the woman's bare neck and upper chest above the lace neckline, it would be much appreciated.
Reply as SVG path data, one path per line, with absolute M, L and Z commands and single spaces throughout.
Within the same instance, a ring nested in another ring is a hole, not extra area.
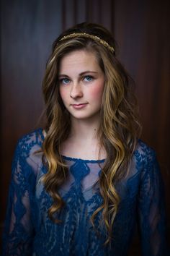
M 98 119 L 73 119 L 71 118 L 71 134 L 61 145 L 61 153 L 74 158 L 104 159 L 106 152 L 101 148 L 97 133 L 99 130 Z

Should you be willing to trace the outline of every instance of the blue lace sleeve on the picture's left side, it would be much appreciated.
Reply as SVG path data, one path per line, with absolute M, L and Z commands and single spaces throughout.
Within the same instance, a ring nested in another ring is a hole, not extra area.
M 12 181 L 6 212 L 2 255 L 31 255 L 33 225 L 31 215 L 32 170 L 27 150 L 18 143 L 12 163 Z

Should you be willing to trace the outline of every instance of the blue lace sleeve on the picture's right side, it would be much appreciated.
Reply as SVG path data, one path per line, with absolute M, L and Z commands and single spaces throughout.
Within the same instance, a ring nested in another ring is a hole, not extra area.
M 156 155 L 146 150 L 138 200 L 143 256 L 168 255 L 166 248 L 164 187 Z

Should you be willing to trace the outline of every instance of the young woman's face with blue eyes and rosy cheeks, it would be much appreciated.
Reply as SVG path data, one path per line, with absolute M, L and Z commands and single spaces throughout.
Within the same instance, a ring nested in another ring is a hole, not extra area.
M 102 105 L 104 72 L 95 54 L 72 51 L 61 59 L 59 91 L 72 119 L 96 119 Z

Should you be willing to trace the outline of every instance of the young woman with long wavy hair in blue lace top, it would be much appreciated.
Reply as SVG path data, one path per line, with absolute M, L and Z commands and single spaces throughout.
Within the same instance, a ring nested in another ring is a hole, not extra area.
M 166 255 L 161 175 L 131 85 L 104 27 L 55 40 L 45 127 L 14 155 L 4 255 L 127 255 L 136 222 L 143 255 Z

